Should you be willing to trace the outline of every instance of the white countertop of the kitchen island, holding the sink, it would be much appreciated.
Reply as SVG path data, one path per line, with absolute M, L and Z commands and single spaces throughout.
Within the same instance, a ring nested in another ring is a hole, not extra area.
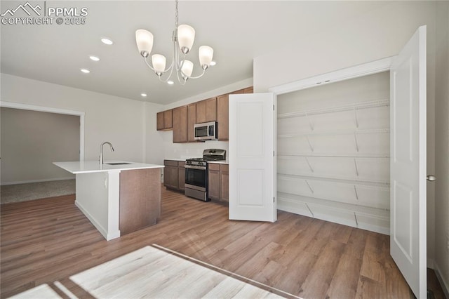
M 130 164 L 108 165 L 107 163 L 126 162 Z M 98 161 L 71 161 L 71 162 L 53 162 L 56 166 L 68 171 L 69 173 L 98 173 L 104 171 L 131 171 L 134 169 L 145 168 L 163 168 L 163 165 L 135 163 L 129 161 L 105 161 L 100 165 Z

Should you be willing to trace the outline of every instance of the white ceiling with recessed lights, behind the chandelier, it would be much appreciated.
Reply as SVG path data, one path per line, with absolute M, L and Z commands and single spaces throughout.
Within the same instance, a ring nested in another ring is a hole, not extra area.
M 25 3 L 1 1 L 1 13 Z M 44 1 L 32 1 L 39 3 L 44 5 Z M 214 48 L 217 65 L 185 86 L 177 81 L 168 86 L 145 65 L 135 45 L 135 30 L 151 31 L 152 53 L 166 55 L 169 63 L 175 1 L 46 1 L 47 7 L 88 8 L 86 24 L 1 25 L 1 72 L 165 105 L 251 78 L 253 58 L 293 46 L 298 39 L 387 4 L 181 0 L 180 24 L 196 30 L 194 49 L 188 55 L 195 64 L 194 75 L 199 73 L 197 53 L 203 44 Z M 102 44 L 102 36 L 110 37 L 114 45 Z M 88 55 L 101 60 L 93 62 Z M 81 73 L 83 67 L 91 73 Z

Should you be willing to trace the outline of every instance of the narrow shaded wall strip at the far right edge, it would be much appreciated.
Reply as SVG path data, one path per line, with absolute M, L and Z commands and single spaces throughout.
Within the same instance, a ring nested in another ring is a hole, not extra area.
M 449 2 L 436 14 L 435 267 L 449 298 Z

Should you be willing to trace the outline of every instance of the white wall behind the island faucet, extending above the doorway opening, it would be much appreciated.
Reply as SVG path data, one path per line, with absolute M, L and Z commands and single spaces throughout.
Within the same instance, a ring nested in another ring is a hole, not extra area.
M 1 74 L 1 100 L 26 105 L 70 109 L 85 114 L 85 160 L 98 160 L 100 144 L 105 160 L 145 161 L 145 104 L 136 100 Z

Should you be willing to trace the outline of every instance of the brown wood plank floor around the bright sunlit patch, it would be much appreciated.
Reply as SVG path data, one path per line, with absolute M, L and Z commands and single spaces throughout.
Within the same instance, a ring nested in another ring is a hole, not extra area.
M 413 298 L 386 235 L 281 211 L 230 221 L 225 206 L 162 192 L 157 225 L 109 242 L 74 196 L 1 205 L 0 297 L 54 281 L 85 294 L 70 276 L 156 244 L 302 298 Z

